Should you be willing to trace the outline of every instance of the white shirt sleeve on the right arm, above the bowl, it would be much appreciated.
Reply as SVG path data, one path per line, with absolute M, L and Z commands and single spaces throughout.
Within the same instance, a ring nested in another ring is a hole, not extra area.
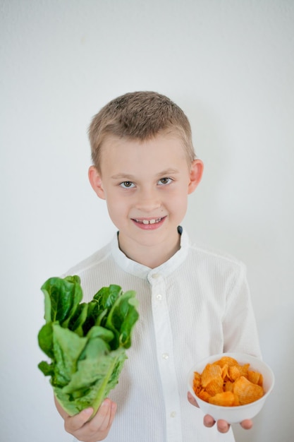
M 261 357 L 255 313 L 243 263 L 233 277 L 223 317 L 223 351 Z

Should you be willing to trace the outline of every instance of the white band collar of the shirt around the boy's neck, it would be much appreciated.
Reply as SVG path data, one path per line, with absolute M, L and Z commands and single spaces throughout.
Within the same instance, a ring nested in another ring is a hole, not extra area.
M 167 276 L 178 268 L 188 255 L 189 239 L 188 234 L 182 227 L 178 227 L 180 235 L 180 249 L 169 258 L 168 261 L 159 265 L 157 268 L 149 268 L 146 265 L 136 263 L 131 260 L 118 247 L 118 235 L 116 234 L 111 241 L 111 253 L 116 264 L 126 273 L 135 275 L 142 279 L 147 279 L 149 275 L 161 274 Z

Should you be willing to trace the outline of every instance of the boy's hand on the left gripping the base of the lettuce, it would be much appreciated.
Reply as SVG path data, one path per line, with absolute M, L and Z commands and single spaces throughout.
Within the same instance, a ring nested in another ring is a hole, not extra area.
M 115 402 L 112 402 L 110 399 L 105 399 L 97 413 L 89 421 L 93 412 L 92 408 L 82 410 L 82 412 L 75 414 L 75 416 L 69 416 L 69 414 L 63 410 L 59 402 L 57 402 L 56 398 L 54 399 L 56 408 L 64 419 L 64 428 L 79 441 L 103 441 L 107 434 L 109 434 L 111 424 L 114 421 L 114 416 L 116 414 Z

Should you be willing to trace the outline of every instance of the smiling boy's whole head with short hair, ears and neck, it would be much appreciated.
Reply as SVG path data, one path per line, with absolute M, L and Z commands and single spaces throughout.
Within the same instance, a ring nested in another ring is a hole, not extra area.
M 89 135 L 90 184 L 106 200 L 120 249 L 157 267 L 179 249 L 178 225 L 202 177 L 187 117 L 164 95 L 132 92 L 106 104 Z

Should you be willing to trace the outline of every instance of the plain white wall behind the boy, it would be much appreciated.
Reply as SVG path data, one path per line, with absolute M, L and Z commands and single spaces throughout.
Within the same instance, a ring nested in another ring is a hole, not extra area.
M 39 288 L 115 232 L 87 181 L 87 127 L 134 90 L 190 119 L 205 165 L 190 237 L 247 264 L 276 387 L 236 439 L 292 441 L 294 2 L 1 0 L 0 13 L 1 441 L 72 439 L 37 369 Z

